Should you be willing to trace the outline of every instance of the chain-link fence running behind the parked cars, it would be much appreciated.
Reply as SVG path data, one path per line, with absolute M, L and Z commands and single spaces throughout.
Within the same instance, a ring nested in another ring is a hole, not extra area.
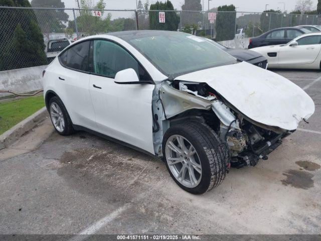
M 168 30 L 237 41 L 298 25 L 321 25 L 321 18 L 281 13 L 0 7 L 0 71 L 48 64 L 72 41 L 108 32 Z

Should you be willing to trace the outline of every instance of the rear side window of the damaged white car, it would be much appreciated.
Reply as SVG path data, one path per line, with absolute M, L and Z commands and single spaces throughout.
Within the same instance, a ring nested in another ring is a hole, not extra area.
M 85 41 L 72 46 L 59 56 L 61 63 L 69 68 L 89 71 L 89 41 Z

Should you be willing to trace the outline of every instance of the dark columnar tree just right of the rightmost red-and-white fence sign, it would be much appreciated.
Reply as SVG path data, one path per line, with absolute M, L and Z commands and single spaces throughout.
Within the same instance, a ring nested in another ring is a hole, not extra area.
M 216 41 L 231 40 L 235 37 L 236 10 L 234 5 L 217 8 Z M 229 13 L 222 13 L 229 12 Z M 234 13 L 233 13 L 234 12 Z

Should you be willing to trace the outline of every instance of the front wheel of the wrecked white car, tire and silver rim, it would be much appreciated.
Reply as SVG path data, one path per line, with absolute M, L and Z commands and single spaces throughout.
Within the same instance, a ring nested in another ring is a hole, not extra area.
M 226 145 L 210 127 L 198 122 L 171 127 L 164 135 L 163 155 L 174 181 L 193 194 L 221 184 L 229 164 Z

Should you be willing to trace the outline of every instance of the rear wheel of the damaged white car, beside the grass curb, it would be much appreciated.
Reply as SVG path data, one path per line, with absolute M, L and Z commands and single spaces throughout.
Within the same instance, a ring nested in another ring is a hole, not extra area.
M 56 96 L 49 101 L 49 113 L 51 122 L 60 135 L 69 136 L 73 133 L 74 130 L 67 109 Z

